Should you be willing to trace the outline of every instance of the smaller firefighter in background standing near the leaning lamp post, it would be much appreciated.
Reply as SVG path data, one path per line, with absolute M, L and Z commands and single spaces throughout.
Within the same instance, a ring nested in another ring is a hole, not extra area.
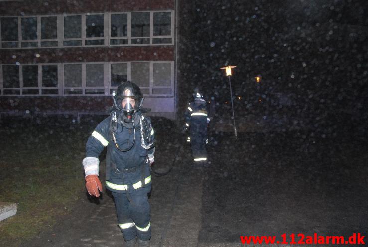
M 208 109 L 206 101 L 200 93 L 195 94 L 194 101 L 189 103 L 185 111 L 185 128 L 190 130 L 190 142 L 194 165 L 196 167 L 207 165 L 207 125 Z

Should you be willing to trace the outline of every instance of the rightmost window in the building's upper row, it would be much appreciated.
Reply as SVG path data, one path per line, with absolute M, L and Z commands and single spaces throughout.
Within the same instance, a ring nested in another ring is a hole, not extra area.
M 153 13 L 153 44 L 171 44 L 171 12 Z

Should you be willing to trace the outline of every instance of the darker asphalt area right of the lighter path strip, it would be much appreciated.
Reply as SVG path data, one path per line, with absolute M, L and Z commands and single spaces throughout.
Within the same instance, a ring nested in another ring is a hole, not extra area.
M 299 233 L 368 234 L 367 145 L 301 132 L 232 135 L 212 134 L 198 246 L 238 246 L 252 235 L 281 241 L 286 233 L 290 242 Z

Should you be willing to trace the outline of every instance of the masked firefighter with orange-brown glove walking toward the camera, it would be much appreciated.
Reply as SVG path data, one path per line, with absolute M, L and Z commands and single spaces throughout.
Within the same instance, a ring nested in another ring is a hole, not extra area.
M 86 144 L 83 160 L 86 188 L 98 197 L 102 191 L 99 155 L 107 147 L 106 188 L 112 192 L 125 247 L 149 246 L 151 238 L 150 166 L 154 162 L 154 131 L 148 117 L 141 114 L 143 95 L 131 82 L 113 92 L 111 116 L 97 125 Z

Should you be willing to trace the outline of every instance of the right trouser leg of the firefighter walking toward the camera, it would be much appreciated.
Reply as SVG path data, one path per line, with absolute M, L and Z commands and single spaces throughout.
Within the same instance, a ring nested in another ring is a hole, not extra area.
M 151 238 L 151 216 L 147 193 L 132 194 L 131 197 L 134 206 L 131 204 L 129 208 L 135 223 L 136 235 L 138 239 L 149 240 Z

